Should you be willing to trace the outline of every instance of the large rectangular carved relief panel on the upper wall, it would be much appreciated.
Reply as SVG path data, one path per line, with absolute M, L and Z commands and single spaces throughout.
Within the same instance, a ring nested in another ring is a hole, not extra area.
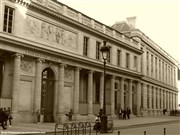
M 26 17 L 24 33 L 35 39 L 51 42 L 51 44 L 48 45 L 54 45 L 56 47 L 65 46 L 76 49 L 76 33 L 31 16 Z

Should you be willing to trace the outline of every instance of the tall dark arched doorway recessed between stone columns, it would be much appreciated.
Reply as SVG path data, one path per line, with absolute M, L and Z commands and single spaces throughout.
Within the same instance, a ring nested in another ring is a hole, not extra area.
M 54 107 L 54 72 L 51 68 L 45 68 L 42 72 L 41 87 L 41 111 L 44 114 L 44 122 L 53 122 Z

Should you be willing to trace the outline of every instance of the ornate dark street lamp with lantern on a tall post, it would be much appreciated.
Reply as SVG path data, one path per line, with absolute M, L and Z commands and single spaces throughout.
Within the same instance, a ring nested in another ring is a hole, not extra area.
M 106 116 L 106 90 L 105 90 L 105 79 L 106 79 L 106 61 L 109 56 L 109 46 L 106 46 L 106 41 L 103 41 L 104 45 L 101 47 L 102 57 L 104 60 L 104 97 L 103 97 L 103 114 L 101 115 L 101 133 L 107 133 L 107 116 Z

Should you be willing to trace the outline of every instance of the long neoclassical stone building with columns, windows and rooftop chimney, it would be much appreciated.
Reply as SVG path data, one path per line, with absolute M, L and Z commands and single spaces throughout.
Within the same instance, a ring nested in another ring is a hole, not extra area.
M 162 115 L 178 107 L 178 63 L 133 19 L 112 27 L 56 0 L 1 0 L 0 107 L 13 121 L 94 119 L 103 106 L 116 117 L 130 107 L 133 116 Z M 110 46 L 104 80 L 100 48 Z

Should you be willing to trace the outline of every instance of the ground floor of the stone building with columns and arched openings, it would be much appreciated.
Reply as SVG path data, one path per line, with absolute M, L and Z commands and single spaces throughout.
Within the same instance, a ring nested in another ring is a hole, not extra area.
M 4 53 L 6 54 L 6 52 Z M 1 107 L 12 108 L 14 121 L 34 122 L 41 110 L 44 122 L 90 119 L 103 106 L 102 67 L 58 60 L 37 53 L 7 53 L 0 60 Z M 112 117 L 129 107 L 132 115 L 161 115 L 177 108 L 177 92 L 133 77 L 107 71 L 106 112 Z

